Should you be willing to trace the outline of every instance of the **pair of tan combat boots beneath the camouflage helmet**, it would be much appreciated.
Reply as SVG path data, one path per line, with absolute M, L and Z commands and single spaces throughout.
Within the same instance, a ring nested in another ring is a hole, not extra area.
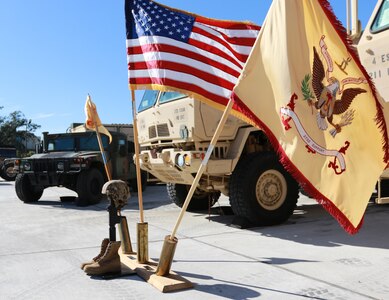
M 118 253 L 121 242 L 110 242 L 104 239 L 100 253 L 90 262 L 81 264 L 81 269 L 88 275 L 103 275 L 121 272 L 120 256 Z

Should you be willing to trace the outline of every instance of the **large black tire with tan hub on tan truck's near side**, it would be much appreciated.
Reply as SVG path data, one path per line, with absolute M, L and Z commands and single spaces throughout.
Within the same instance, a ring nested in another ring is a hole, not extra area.
M 286 221 L 296 207 L 299 186 L 275 153 L 253 153 L 236 166 L 230 180 L 235 215 L 259 226 Z

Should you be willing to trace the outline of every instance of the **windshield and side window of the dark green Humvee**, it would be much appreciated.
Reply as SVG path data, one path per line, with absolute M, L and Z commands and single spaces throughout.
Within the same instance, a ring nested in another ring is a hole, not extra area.
M 104 149 L 108 148 L 109 140 L 105 135 L 101 135 Z M 88 136 L 74 137 L 63 136 L 49 139 L 47 143 L 48 151 L 100 151 L 99 143 L 95 134 Z

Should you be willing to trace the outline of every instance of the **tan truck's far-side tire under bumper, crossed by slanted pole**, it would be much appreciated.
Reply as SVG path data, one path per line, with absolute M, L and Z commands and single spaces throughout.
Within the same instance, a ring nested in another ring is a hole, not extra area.
M 167 183 L 167 194 L 170 200 L 177 206 L 182 207 L 184 205 L 186 196 L 188 195 L 190 185 Z M 188 205 L 188 211 L 206 210 L 212 207 L 220 197 L 220 192 L 205 192 L 200 189 L 196 189 L 193 193 L 192 199 Z

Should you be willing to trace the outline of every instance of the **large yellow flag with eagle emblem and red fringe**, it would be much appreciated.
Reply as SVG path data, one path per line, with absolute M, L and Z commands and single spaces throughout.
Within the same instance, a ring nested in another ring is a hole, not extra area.
M 386 124 L 328 1 L 273 0 L 233 99 L 304 189 L 356 233 L 386 166 Z

